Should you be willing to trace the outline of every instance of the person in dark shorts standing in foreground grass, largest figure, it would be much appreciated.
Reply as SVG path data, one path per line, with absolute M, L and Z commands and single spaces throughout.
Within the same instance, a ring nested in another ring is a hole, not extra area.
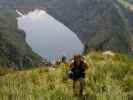
M 74 55 L 74 61 L 70 64 L 69 78 L 73 80 L 73 93 L 75 96 L 82 96 L 85 85 L 85 71 L 88 65 L 81 55 Z M 76 84 L 79 82 L 79 89 L 76 91 Z M 77 93 L 78 92 L 78 93 Z

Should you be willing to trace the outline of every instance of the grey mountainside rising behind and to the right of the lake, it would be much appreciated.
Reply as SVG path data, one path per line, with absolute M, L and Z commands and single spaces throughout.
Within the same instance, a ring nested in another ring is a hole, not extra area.
M 45 9 L 73 30 L 86 50 L 128 52 L 133 48 L 132 26 L 117 0 L 1 0 L 0 6 L 22 11 Z

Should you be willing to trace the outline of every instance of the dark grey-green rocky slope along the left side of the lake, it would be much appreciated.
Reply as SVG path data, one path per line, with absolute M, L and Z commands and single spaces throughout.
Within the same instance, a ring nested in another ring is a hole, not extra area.
M 42 58 L 25 41 L 25 33 L 17 28 L 16 12 L 0 9 L 0 65 L 16 68 L 38 65 Z

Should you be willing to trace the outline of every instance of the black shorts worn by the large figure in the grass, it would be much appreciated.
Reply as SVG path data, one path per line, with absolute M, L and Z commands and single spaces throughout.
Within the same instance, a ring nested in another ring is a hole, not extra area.
M 82 70 L 72 69 L 69 71 L 69 78 L 76 81 L 85 78 L 85 73 Z

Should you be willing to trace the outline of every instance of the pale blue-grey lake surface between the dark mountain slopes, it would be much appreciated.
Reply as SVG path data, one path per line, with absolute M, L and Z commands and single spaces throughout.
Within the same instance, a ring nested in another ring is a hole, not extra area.
M 43 10 L 34 10 L 17 18 L 18 26 L 26 32 L 26 40 L 32 49 L 50 61 L 61 56 L 71 57 L 83 52 L 78 37 L 65 25 Z

